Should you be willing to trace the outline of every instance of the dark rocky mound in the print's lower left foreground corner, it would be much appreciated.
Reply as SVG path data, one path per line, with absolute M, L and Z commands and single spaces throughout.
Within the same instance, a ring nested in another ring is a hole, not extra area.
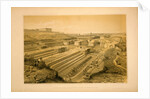
M 57 72 L 51 69 L 39 69 L 35 66 L 25 65 L 24 83 L 46 83 L 46 82 L 62 82 L 57 77 Z

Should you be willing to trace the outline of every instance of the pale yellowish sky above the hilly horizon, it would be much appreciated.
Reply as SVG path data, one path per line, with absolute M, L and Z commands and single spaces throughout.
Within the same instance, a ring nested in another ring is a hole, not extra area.
M 52 28 L 64 33 L 125 33 L 125 15 L 24 16 L 24 29 Z

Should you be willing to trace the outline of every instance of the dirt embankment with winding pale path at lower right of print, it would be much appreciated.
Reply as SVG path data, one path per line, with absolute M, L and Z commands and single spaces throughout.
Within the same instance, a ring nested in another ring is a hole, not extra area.
M 115 48 L 108 49 L 104 54 L 104 70 L 93 74 L 88 81 L 91 83 L 126 83 L 127 64 L 126 52 Z M 114 62 L 115 61 L 115 62 Z

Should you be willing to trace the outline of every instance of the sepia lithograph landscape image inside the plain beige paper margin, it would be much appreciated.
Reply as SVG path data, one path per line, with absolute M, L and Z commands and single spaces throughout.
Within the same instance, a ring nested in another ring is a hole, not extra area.
M 127 83 L 126 15 L 24 16 L 24 83 Z

